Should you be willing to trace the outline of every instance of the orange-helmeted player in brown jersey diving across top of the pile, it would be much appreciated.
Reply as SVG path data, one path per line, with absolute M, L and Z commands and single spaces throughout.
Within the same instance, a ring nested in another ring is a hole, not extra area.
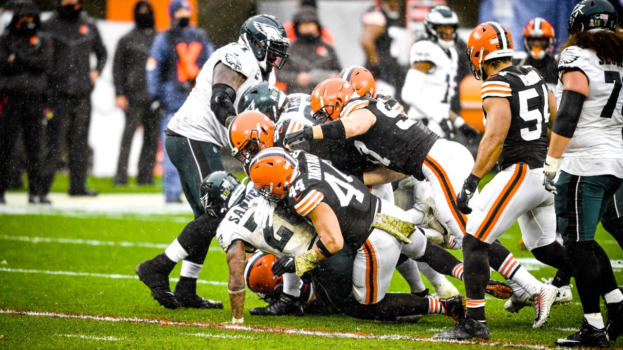
M 348 82 L 336 78 L 316 86 L 312 111 L 325 123 L 292 133 L 285 144 L 352 138 L 359 152 L 379 164 L 379 168 L 412 175 L 420 181 L 426 178 L 432 187 L 435 207 L 461 246 L 467 217 L 459 212 L 456 196 L 461 181 L 473 167 L 467 148 L 441 139 L 419 121 L 391 110 L 383 102 L 358 98 Z M 418 224 L 419 219 L 414 222 Z M 514 296 L 521 296 L 526 289 L 541 290 L 543 283 L 532 277 L 499 242 L 492 244 L 489 262 L 513 287 Z

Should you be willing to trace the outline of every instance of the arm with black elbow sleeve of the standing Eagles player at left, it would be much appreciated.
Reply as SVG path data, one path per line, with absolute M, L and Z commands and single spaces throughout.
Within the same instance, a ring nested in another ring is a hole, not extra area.
M 212 72 L 212 100 L 210 108 L 217 120 L 225 127 L 229 126 L 236 115 L 234 108 L 235 92 L 247 78 L 240 72 L 219 62 Z

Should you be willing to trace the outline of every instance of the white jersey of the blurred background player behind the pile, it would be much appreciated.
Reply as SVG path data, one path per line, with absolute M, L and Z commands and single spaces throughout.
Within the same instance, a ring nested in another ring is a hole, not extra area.
M 430 62 L 434 67 L 425 75 L 421 90 L 409 92 L 415 95 L 405 99 L 416 102 L 411 104 L 407 116 L 412 120 L 430 118 L 440 121 L 448 118 L 450 102 L 457 87 L 457 51 L 454 47 L 446 51 L 435 42 L 420 40 L 413 44 L 409 54 L 409 64 L 413 65 L 415 62 Z

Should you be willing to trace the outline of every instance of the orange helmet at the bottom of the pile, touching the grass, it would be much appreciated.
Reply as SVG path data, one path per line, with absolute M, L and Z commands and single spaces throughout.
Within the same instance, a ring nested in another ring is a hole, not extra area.
M 277 293 L 283 285 L 283 276 L 275 278 L 272 265 L 277 261 L 275 255 L 260 252 L 247 256 L 244 265 L 244 281 L 255 293 L 270 295 Z

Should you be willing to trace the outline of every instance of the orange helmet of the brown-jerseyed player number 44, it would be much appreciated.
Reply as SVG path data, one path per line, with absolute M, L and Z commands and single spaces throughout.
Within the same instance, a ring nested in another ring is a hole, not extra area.
M 258 192 L 270 201 L 278 201 L 288 193 L 298 176 L 298 161 L 283 148 L 260 151 L 249 164 L 249 177 Z

